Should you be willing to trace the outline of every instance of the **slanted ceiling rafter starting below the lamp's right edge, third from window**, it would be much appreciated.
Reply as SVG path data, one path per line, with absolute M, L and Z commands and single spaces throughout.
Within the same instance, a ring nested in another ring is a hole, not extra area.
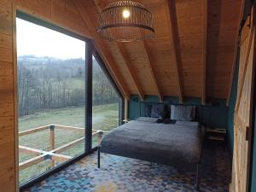
M 148 43 L 146 41 L 143 41 L 143 46 L 144 46 L 144 49 L 146 51 L 146 55 L 147 55 L 147 59 L 148 59 L 148 69 L 151 73 L 151 77 L 152 77 L 152 80 L 153 80 L 153 83 L 154 83 L 154 87 L 155 87 L 155 90 L 157 91 L 157 96 L 159 97 L 160 102 L 163 102 L 163 96 L 160 92 L 159 85 L 156 82 L 156 79 L 155 79 L 156 75 L 154 74 L 154 70 L 152 68 L 152 56 L 150 54 L 150 49 L 148 47 Z

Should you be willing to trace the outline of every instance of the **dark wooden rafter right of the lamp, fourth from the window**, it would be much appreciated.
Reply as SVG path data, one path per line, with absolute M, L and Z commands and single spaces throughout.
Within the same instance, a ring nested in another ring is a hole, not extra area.
M 183 102 L 183 85 L 182 85 L 182 78 L 181 78 L 181 54 L 179 49 L 179 36 L 177 32 L 177 12 L 176 12 L 176 5 L 175 0 L 166 0 L 168 5 L 168 19 L 170 23 L 170 31 L 171 31 L 171 38 L 173 44 L 173 58 L 174 58 L 174 67 L 177 73 L 177 87 L 178 87 L 178 95 L 179 95 L 179 102 Z

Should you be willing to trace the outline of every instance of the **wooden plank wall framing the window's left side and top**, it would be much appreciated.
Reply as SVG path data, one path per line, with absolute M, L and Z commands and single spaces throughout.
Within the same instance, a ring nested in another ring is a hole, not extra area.
M 50 21 L 71 32 L 90 38 L 73 1 L 0 0 L 0 191 L 18 191 L 18 162 L 15 162 L 16 107 L 16 9 Z M 15 174 L 17 173 L 17 174 Z

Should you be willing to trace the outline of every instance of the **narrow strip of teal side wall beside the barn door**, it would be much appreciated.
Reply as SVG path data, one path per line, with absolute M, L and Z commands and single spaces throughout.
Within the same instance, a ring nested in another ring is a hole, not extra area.
M 239 53 L 238 57 L 239 58 Z M 237 82 L 238 82 L 239 63 L 236 62 L 232 90 L 230 95 L 229 119 L 228 119 L 228 148 L 233 152 L 234 148 L 234 110 L 236 106 Z

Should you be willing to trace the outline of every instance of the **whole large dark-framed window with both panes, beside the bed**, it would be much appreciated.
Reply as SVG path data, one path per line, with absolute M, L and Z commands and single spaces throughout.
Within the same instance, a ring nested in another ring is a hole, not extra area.
M 26 189 L 93 152 L 119 125 L 122 99 L 90 40 L 18 16 L 19 174 Z

